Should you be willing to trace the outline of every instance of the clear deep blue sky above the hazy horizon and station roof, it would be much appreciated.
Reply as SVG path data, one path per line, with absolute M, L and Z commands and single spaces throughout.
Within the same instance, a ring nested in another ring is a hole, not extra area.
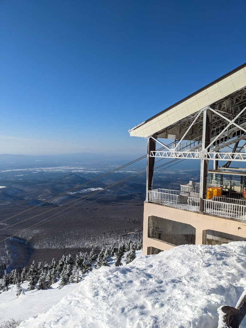
M 245 12 L 245 0 L 1 0 L 0 154 L 146 152 L 130 128 L 246 61 Z

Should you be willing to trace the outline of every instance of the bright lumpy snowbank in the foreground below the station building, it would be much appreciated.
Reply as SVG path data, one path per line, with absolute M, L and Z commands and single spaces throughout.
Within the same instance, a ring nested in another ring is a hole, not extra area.
M 217 308 L 235 306 L 246 287 L 245 258 L 246 242 L 184 245 L 102 267 L 20 327 L 216 328 Z

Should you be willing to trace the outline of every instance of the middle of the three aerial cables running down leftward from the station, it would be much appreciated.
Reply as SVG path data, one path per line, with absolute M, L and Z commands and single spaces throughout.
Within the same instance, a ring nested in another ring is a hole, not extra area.
M 175 161 L 177 161 L 177 159 L 174 159 L 174 160 L 172 160 L 172 161 L 170 161 L 170 162 L 167 162 L 167 163 L 165 163 L 165 164 L 162 164 L 162 165 L 156 167 L 156 169 L 159 168 L 159 167 L 162 167 L 162 166 L 164 166 L 164 165 L 168 165 L 168 164 L 170 164 L 170 163 L 173 163 L 173 162 L 175 162 Z M 145 170 L 145 169 L 144 169 L 144 170 Z M 139 170 L 138 172 L 140 172 L 140 171 L 143 171 L 143 169 Z M 159 172 L 159 171 L 158 171 L 158 172 Z M 123 183 L 123 182 L 125 182 L 125 181 L 128 181 L 128 180 L 130 180 L 130 179 L 133 179 L 133 178 L 135 178 L 135 177 L 137 177 L 137 176 L 139 176 L 139 175 L 142 175 L 142 174 L 145 174 L 145 172 L 142 172 L 142 173 L 137 174 L 137 175 L 133 175 L 133 174 L 131 174 L 131 175 L 129 175 L 128 177 L 126 177 L 126 178 L 124 178 L 124 179 L 122 179 L 122 180 L 120 180 L 120 181 L 118 181 L 118 182 L 115 182 L 114 184 L 112 184 L 112 185 L 110 185 L 110 186 L 107 186 L 107 187 L 105 187 L 105 188 L 103 188 L 103 189 L 100 189 L 100 190 L 98 190 L 98 191 L 95 191 L 95 192 L 93 192 L 93 193 L 91 193 L 91 194 L 89 194 L 89 195 L 84 195 L 84 196 L 82 196 L 82 197 L 80 197 L 80 198 L 73 199 L 72 201 L 70 201 L 70 202 L 68 202 L 68 203 L 66 203 L 66 204 L 63 204 L 63 205 L 61 205 L 60 207 L 63 207 L 63 206 L 69 205 L 69 204 L 71 204 L 71 203 L 73 203 L 73 202 L 79 200 L 78 202 L 76 202 L 75 204 L 73 204 L 73 205 L 70 206 L 70 207 L 72 207 L 72 206 L 74 206 L 74 205 L 80 203 L 81 201 L 90 198 L 90 197 L 93 196 L 93 195 L 96 195 L 96 194 L 98 194 L 98 193 L 100 193 L 100 192 L 102 192 L 102 191 L 104 191 L 104 190 L 106 190 L 106 189 L 109 189 L 109 188 L 111 188 L 111 187 L 113 187 L 113 186 L 115 186 L 115 185 L 117 185 L 117 184 Z M 68 208 L 70 208 L 70 207 L 68 207 Z M 68 208 L 63 209 L 62 211 L 60 211 L 60 212 L 58 212 L 58 213 L 55 213 L 54 215 L 57 215 L 57 214 L 59 214 L 59 213 L 65 211 L 65 210 L 67 210 Z M 49 212 L 51 212 L 51 211 L 53 211 L 53 210 L 56 210 L 56 209 L 57 209 L 57 208 L 53 208 L 53 209 L 48 210 L 48 211 L 46 211 L 46 212 L 43 212 L 43 213 L 40 213 L 40 214 L 37 214 L 37 215 L 31 216 L 31 217 L 29 217 L 29 218 L 27 218 L 27 219 L 24 219 L 24 220 L 22 220 L 22 221 L 18 221 L 18 222 L 16 222 L 16 223 L 13 223 L 13 224 L 11 224 L 11 225 L 8 225 L 8 226 L 6 226 L 6 227 L 0 229 L 0 231 L 1 231 L 1 230 L 4 230 L 4 229 L 7 229 L 7 228 L 10 228 L 10 227 L 12 227 L 12 226 L 14 226 L 14 225 L 16 225 L 16 224 L 20 224 L 20 223 L 22 223 L 22 222 L 25 222 L 25 221 L 28 221 L 28 220 L 30 220 L 30 219 L 33 219 L 33 218 L 35 218 L 35 217 L 37 217 L 37 216 L 40 216 L 40 215 L 43 215 L 43 214 L 49 213 Z M 53 215 L 52 215 L 52 216 L 53 216 Z M 1 221 L 0 223 L 4 222 L 4 221 L 6 221 L 6 220 L 8 220 L 8 219 L 5 219 L 5 220 Z

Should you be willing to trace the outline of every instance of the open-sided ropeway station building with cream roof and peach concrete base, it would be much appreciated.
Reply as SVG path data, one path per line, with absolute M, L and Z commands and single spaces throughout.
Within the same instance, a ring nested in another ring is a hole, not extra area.
M 246 64 L 129 132 L 148 138 L 144 255 L 246 241 Z M 155 158 L 200 161 L 200 183 L 153 189 Z

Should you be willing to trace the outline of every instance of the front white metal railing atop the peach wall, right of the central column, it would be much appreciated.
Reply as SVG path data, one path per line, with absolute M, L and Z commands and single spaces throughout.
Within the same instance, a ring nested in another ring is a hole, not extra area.
M 242 221 L 246 219 L 245 205 L 231 204 L 213 199 L 203 200 L 203 212 Z

